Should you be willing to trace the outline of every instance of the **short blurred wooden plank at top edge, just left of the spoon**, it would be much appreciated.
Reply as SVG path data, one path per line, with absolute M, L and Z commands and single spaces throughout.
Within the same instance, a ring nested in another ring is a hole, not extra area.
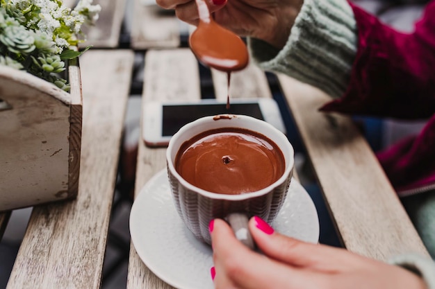
M 131 47 L 136 50 L 180 46 L 179 20 L 159 6 L 134 0 Z

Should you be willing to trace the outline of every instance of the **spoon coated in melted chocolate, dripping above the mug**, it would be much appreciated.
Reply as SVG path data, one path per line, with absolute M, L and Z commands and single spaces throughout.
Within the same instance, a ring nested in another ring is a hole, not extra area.
M 210 17 L 204 0 L 196 0 L 199 24 L 190 35 L 190 49 L 200 62 L 220 71 L 238 71 L 248 64 L 245 42 Z

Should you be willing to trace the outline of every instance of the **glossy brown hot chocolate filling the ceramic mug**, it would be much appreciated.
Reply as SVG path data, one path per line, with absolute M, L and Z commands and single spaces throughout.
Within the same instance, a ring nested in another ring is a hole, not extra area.
M 181 146 L 177 172 L 190 184 L 224 194 L 264 189 L 281 177 L 284 156 L 277 145 L 250 130 L 223 128 L 198 134 Z

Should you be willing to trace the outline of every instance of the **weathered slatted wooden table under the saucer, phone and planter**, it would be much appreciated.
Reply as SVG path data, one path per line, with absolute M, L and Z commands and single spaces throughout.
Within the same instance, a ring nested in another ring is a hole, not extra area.
M 88 34 L 95 48 L 80 60 L 83 143 L 79 197 L 33 209 L 8 289 L 100 288 L 122 125 L 134 69 L 144 67 L 142 105 L 156 99 L 202 97 L 204 76 L 190 50 L 181 47 L 174 15 L 143 6 L 141 0 L 95 2 L 104 8 L 99 23 Z M 131 17 L 124 18 L 126 7 L 133 8 L 129 10 L 133 11 Z M 120 33 L 126 21 L 131 27 L 129 47 L 120 49 Z M 134 65 L 135 59 L 139 59 L 139 65 Z M 215 96 L 226 98 L 225 74 L 211 71 L 211 79 Z M 343 246 L 379 260 L 409 251 L 427 254 L 352 119 L 318 112 L 318 107 L 328 100 L 318 89 L 283 75 L 278 75 L 277 80 Z M 234 73 L 230 94 L 233 98 L 272 97 L 270 81 L 254 66 Z M 136 195 L 163 168 L 165 148 L 148 148 L 139 139 Z M 0 213 L 0 236 L 8 216 Z M 133 245 L 126 278 L 126 288 L 171 288 L 142 263 Z

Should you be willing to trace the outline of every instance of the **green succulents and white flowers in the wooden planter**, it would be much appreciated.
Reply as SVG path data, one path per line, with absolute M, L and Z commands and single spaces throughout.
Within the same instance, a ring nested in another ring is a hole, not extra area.
M 101 7 L 81 0 L 72 10 L 60 0 L 0 0 L 0 65 L 25 70 L 69 91 L 62 78 L 65 61 L 90 49 L 83 24 L 92 25 Z M 82 38 L 80 38 L 82 37 Z

